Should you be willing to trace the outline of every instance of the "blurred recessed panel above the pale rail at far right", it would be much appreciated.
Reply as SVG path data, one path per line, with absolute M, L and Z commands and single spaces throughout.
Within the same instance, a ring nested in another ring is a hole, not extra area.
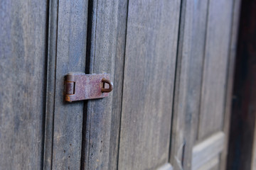
M 198 140 L 223 128 L 233 1 L 209 1 Z

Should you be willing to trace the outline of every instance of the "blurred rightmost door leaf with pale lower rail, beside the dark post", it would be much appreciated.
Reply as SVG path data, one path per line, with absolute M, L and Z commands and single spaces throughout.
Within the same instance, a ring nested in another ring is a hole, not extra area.
M 240 1 L 183 2 L 174 169 L 225 169 Z

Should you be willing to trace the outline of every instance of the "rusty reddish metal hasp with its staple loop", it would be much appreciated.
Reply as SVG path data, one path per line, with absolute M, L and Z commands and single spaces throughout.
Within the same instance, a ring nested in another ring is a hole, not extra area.
M 110 74 L 70 73 L 65 76 L 65 101 L 105 98 L 112 89 Z

